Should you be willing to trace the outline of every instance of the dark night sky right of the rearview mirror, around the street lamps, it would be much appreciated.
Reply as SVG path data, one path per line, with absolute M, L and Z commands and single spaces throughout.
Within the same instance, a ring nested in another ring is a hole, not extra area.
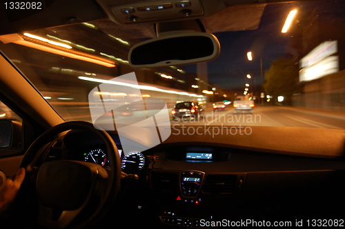
M 267 5 L 257 30 L 215 33 L 221 53 L 217 59 L 208 62 L 208 81 L 226 90 L 244 90 L 245 83 L 254 85 L 256 80 L 259 88 L 261 54 L 264 77 L 265 70 L 277 57 L 297 53 L 288 44 L 290 33 L 281 32 L 288 13 L 296 6 L 297 3 Z M 248 51 L 253 53 L 253 61 L 248 61 Z M 252 79 L 247 79 L 246 74 Z

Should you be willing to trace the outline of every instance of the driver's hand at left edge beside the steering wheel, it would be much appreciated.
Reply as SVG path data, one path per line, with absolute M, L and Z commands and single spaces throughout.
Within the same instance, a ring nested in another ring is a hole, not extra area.
M 19 168 L 14 178 L 8 178 L 0 186 L 0 213 L 5 211 L 16 197 L 17 192 L 23 183 L 25 169 Z

